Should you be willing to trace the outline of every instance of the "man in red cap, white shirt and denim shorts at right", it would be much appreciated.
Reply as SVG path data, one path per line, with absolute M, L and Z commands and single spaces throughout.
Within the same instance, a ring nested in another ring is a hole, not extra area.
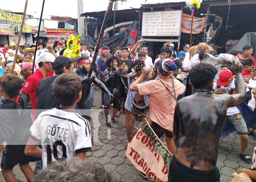
M 245 89 L 245 88 L 244 88 Z M 219 74 L 219 79 L 213 86 L 214 94 L 225 94 L 230 95 L 237 94 L 236 80 L 233 79 L 233 74 L 230 70 L 224 70 Z M 241 138 L 241 154 L 240 157 L 245 163 L 252 163 L 252 159 L 246 155 L 246 148 L 249 144 L 248 130 L 246 127 L 245 120 L 238 110 L 237 106 L 230 107 L 227 109 L 226 119 L 233 124 L 237 130 L 237 134 Z

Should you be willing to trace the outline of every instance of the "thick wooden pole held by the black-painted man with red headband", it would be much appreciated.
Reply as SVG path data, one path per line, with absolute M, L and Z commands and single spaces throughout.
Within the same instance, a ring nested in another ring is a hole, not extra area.
M 97 46 L 95 48 L 95 52 L 94 52 L 94 56 L 93 56 L 93 61 L 91 62 L 91 68 L 90 68 L 90 71 L 88 73 L 88 77 L 91 77 L 91 74 L 93 73 L 93 67 L 94 67 L 96 59 L 97 59 L 97 54 L 98 54 L 98 51 L 99 51 L 99 46 L 101 45 L 101 40 L 102 40 L 102 37 L 103 37 L 103 34 L 104 34 L 104 30 L 105 30 L 106 25 L 107 25 L 109 14 L 110 14 L 110 12 L 112 11 L 112 8 L 113 8 L 113 3 L 114 3 L 113 0 L 109 1 L 108 9 L 106 11 L 106 14 L 105 14 L 102 26 L 101 26 L 101 32 L 99 33 L 99 38 L 98 38 L 98 41 L 97 41 Z M 86 83 L 85 92 L 82 95 L 80 103 L 82 103 L 84 101 L 86 92 L 89 91 L 90 88 L 91 88 L 91 86 L 88 83 Z

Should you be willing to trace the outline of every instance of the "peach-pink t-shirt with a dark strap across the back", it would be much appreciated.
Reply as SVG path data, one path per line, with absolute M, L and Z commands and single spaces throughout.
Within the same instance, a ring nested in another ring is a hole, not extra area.
M 173 92 L 172 82 L 163 83 Z M 173 131 L 173 115 L 176 102 L 172 95 L 167 91 L 160 80 L 150 80 L 137 85 L 140 95 L 147 95 L 150 107 L 150 119 L 165 128 Z M 176 98 L 185 92 L 186 87 L 178 80 L 174 80 Z

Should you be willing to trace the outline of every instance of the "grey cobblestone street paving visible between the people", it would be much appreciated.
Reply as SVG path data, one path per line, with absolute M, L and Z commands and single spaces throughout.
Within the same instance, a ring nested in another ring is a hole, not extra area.
M 96 111 L 100 111 L 103 109 L 101 107 L 100 98 L 101 91 L 99 89 L 95 90 L 93 109 Z M 100 113 L 98 119 L 99 123 L 102 125 L 99 126 L 97 133 L 95 133 L 94 128 L 93 135 L 95 143 L 92 147 L 92 151 L 87 153 L 87 160 L 93 163 L 97 162 L 103 165 L 106 170 L 114 175 L 118 182 L 150 181 L 149 179 L 144 179 L 143 177 L 141 177 L 135 167 L 133 167 L 132 163 L 127 158 L 125 158 L 125 150 L 128 143 L 127 135 L 125 132 L 125 114 L 121 112 L 121 115 L 118 118 L 120 124 L 113 124 L 113 127 L 111 129 L 106 126 L 105 115 L 103 111 Z M 134 133 L 136 133 L 139 127 L 140 123 L 136 122 Z M 91 131 L 93 131 L 93 129 L 91 129 Z M 252 157 L 255 141 L 252 139 L 251 136 L 249 137 L 249 139 L 249 146 L 246 153 Z M 102 143 L 104 145 L 97 145 L 98 143 Z M 217 167 L 220 170 L 222 182 L 230 182 L 232 179 L 231 174 L 237 172 L 241 168 L 251 168 L 251 165 L 248 165 L 240 160 L 240 158 L 238 157 L 240 152 L 240 138 L 236 133 L 232 133 L 228 137 L 220 139 Z M 0 156 L 0 159 L 1 158 L 2 154 Z M 31 167 L 33 167 L 34 165 L 34 162 L 30 163 Z M 14 167 L 14 173 L 18 180 L 24 182 L 26 181 L 26 178 L 20 171 L 18 165 Z M 0 182 L 3 181 L 3 175 L 0 174 Z

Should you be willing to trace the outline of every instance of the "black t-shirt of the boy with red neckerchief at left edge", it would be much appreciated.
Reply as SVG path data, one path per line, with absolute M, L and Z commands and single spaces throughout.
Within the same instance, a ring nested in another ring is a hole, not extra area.
M 26 143 L 32 125 L 31 112 L 28 109 L 27 95 L 20 94 L 17 102 L 3 99 L 0 106 L 0 144 L 9 145 Z M 24 144 L 23 144 L 24 145 Z

